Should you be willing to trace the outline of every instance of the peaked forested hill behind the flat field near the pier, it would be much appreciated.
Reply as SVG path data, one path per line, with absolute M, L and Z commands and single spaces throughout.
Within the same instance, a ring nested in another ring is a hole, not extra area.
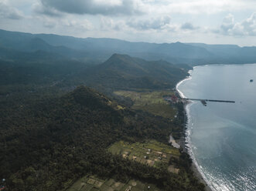
M 149 62 L 114 54 L 101 65 L 85 70 L 79 77 L 84 78 L 87 85 L 101 84 L 112 89 L 170 89 L 186 75 L 187 69 L 166 61 Z

